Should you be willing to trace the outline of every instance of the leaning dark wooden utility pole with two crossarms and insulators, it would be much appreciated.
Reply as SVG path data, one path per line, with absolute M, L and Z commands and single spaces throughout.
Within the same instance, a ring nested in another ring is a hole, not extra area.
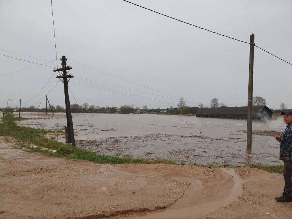
M 73 129 L 73 121 L 71 115 L 71 108 L 70 108 L 70 100 L 69 100 L 69 93 L 68 93 L 68 80 L 67 78 L 73 78 L 72 75 L 67 75 L 67 70 L 72 69 L 72 67 L 66 65 L 66 57 L 62 55 L 62 68 L 55 69 L 54 72 L 62 71 L 63 75 L 58 76 L 56 78 L 62 78 L 64 84 L 64 93 L 65 93 L 65 106 L 66 106 L 66 117 L 67 117 L 67 128 L 68 128 L 68 143 L 72 143 L 75 146 L 75 138 L 74 138 L 74 129 Z

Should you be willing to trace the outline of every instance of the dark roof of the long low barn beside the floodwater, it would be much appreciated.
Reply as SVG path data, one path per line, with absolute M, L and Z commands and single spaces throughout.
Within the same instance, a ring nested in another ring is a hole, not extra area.
M 273 113 L 267 106 L 253 106 L 253 114 L 258 114 L 262 110 L 267 113 Z M 218 107 L 218 108 L 201 108 L 197 114 L 247 114 L 246 107 Z

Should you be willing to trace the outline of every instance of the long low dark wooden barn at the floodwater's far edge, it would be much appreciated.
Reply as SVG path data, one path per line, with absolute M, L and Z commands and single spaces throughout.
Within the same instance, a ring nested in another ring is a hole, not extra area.
M 272 118 L 272 110 L 267 106 L 253 106 L 253 119 Z M 201 108 L 197 111 L 197 117 L 221 118 L 221 119 L 247 119 L 246 107 L 218 107 Z

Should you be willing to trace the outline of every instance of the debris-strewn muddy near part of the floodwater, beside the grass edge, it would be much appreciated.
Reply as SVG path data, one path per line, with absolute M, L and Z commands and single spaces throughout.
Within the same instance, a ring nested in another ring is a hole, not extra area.
M 142 136 L 110 137 L 106 141 L 76 140 L 77 147 L 119 157 L 142 157 L 149 159 L 171 159 L 178 164 L 279 164 L 277 146 L 265 140 L 260 148 L 247 151 L 242 148 L 246 142 L 239 130 L 230 137 L 211 138 L 203 135 L 147 134 Z M 277 131 L 254 131 L 253 135 L 282 135 Z M 268 150 L 267 150 L 268 149 Z

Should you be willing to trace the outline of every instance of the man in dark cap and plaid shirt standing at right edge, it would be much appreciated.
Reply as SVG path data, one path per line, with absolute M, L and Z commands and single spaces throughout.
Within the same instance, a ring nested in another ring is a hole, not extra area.
M 283 137 L 275 135 L 275 139 L 281 142 L 280 145 L 280 160 L 284 161 L 284 180 L 285 186 L 283 195 L 275 198 L 280 202 L 292 202 L 292 111 L 281 112 L 284 115 L 284 122 L 287 124 L 283 133 Z

